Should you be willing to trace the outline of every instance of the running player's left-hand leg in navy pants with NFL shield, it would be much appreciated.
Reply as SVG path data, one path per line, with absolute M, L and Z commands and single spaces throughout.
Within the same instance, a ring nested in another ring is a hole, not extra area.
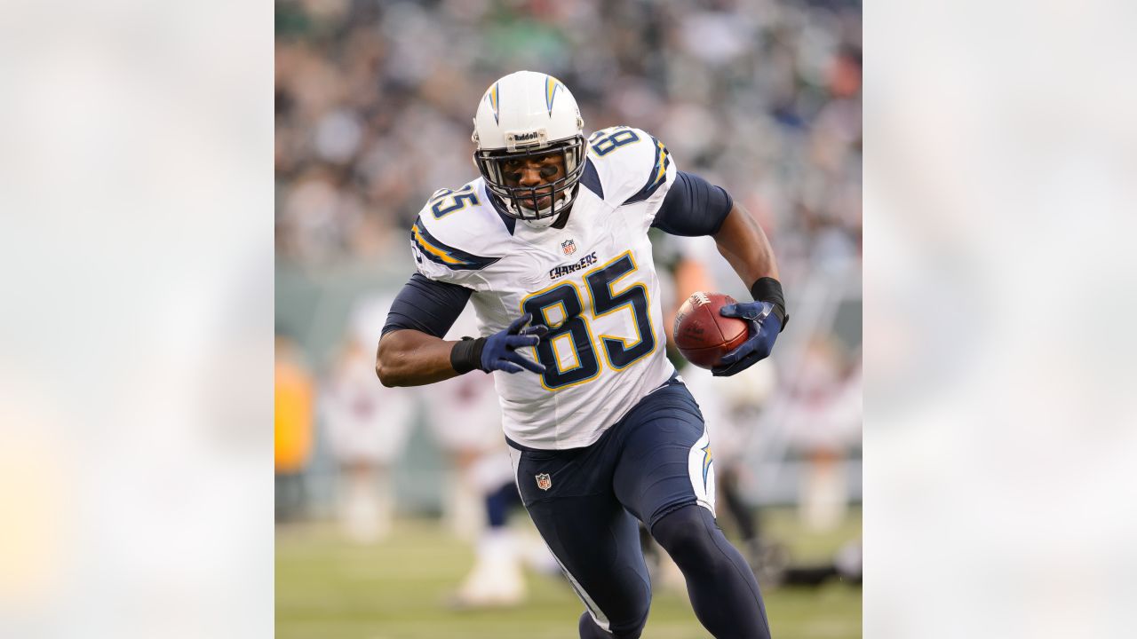
M 599 459 L 511 451 L 522 501 L 576 595 L 601 628 L 647 619 L 650 579 L 639 525 L 612 491 Z

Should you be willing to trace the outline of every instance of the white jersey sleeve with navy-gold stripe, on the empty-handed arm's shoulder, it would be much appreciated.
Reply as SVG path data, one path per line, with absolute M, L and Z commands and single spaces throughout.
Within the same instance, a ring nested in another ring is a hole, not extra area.
M 493 251 L 487 246 L 484 233 L 480 232 L 476 223 L 471 224 L 462 215 L 450 215 L 457 211 L 447 211 L 447 207 L 439 206 L 439 201 L 449 201 L 445 198 L 435 193 L 410 226 L 415 269 L 430 280 L 475 291 L 484 290 L 487 284 L 481 272 L 501 258 L 491 255 Z M 453 200 L 454 196 L 449 198 Z M 473 201 L 476 202 L 476 199 Z M 443 211 L 441 215 L 440 210 Z

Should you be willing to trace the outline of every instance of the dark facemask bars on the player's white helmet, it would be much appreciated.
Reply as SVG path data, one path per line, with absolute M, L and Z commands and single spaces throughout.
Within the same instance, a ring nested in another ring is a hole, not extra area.
M 576 185 L 584 173 L 587 142 L 583 135 L 551 143 L 538 143 L 509 149 L 479 149 L 474 151 L 474 164 L 485 180 L 485 186 L 505 201 L 505 213 L 523 222 L 548 221 L 567 209 L 576 194 Z M 548 184 L 537 186 L 511 186 L 506 182 L 504 165 L 508 160 L 522 160 L 559 151 L 564 158 L 565 175 Z M 545 208 L 538 202 L 550 196 Z M 543 226 L 545 224 L 541 224 Z

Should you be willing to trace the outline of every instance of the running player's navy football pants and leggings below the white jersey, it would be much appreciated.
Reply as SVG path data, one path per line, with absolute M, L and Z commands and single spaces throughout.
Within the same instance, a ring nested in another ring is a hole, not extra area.
M 770 637 L 754 574 L 714 524 L 709 440 L 687 387 L 648 395 L 586 448 L 509 446 L 522 501 L 587 607 L 582 639 L 636 639 L 647 622 L 636 520 L 679 565 L 714 637 Z

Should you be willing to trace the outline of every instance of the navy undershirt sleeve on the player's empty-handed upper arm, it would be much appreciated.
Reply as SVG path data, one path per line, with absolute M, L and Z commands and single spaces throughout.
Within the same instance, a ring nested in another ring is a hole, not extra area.
M 410 329 L 435 338 L 445 337 L 462 315 L 472 292 L 465 287 L 437 282 L 415 273 L 391 302 L 382 334 Z

